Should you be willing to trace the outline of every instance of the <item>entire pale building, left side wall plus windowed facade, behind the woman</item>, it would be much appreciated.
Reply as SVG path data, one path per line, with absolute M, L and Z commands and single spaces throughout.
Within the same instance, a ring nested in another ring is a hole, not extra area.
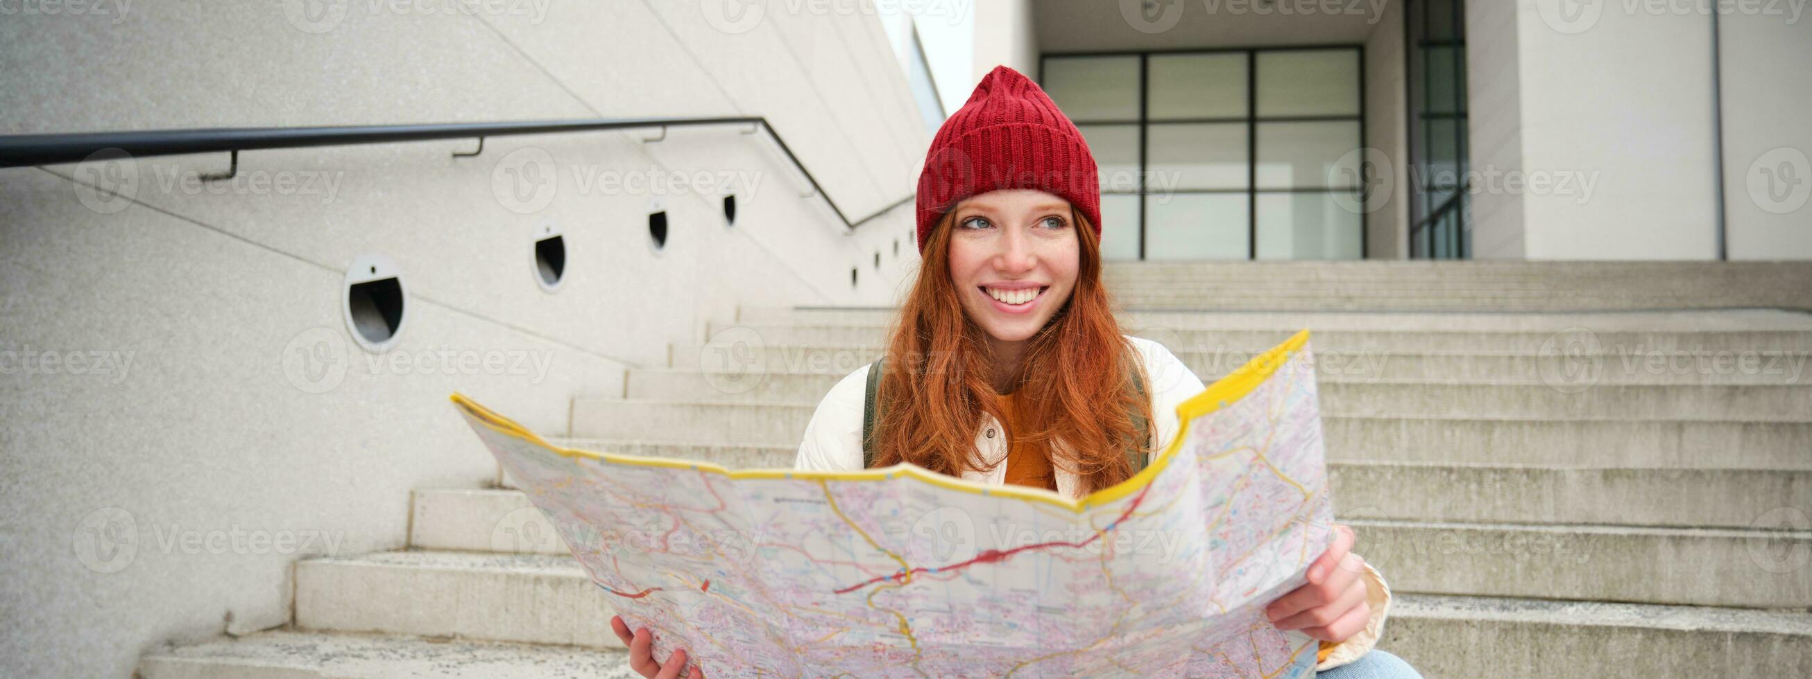
M 299 561 L 495 483 L 451 391 L 567 431 L 747 310 L 893 304 L 998 63 L 1087 136 L 1116 261 L 1812 259 L 1812 18 L 1718 7 L 0 2 L 0 136 L 774 130 L 0 168 L 0 674 L 294 621 Z

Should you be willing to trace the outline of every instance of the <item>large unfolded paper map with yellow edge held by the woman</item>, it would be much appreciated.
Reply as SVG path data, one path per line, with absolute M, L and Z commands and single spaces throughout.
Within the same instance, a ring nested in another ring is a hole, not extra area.
M 1263 607 L 1332 541 L 1308 331 L 1178 407 L 1078 500 L 901 464 L 817 473 L 565 449 L 460 395 L 654 657 L 719 677 L 1301 677 Z M 685 675 L 685 674 L 681 674 Z

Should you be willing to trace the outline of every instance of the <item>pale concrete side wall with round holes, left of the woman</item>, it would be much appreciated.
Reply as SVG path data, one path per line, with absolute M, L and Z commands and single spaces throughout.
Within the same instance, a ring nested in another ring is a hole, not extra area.
M 852 217 L 911 190 L 928 132 L 872 16 L 714 5 L 7 16 L 0 129 L 759 114 Z M 560 433 L 573 395 L 620 393 L 707 319 L 886 304 L 915 264 L 910 205 L 844 235 L 759 136 L 645 136 L 246 152 L 228 183 L 194 179 L 225 154 L 0 170 L 0 674 L 125 677 L 150 645 L 281 625 L 294 559 L 400 547 L 410 489 L 495 474 L 455 389 Z M 527 167 L 551 183 L 524 199 Z M 734 226 L 714 192 L 649 186 L 678 174 L 730 181 Z M 342 322 L 364 253 L 408 290 L 384 355 Z

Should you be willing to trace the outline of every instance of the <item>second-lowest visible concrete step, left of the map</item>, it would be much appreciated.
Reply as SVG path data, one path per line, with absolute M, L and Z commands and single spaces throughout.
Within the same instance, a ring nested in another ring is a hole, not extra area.
M 375 552 L 295 563 L 295 626 L 622 648 L 609 594 L 571 556 Z

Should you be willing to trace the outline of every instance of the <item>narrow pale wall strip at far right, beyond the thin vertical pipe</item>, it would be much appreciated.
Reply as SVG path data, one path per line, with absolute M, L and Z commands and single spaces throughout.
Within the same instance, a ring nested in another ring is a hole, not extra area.
M 1812 16 L 1747 7 L 1718 18 L 1729 253 L 1812 259 Z

